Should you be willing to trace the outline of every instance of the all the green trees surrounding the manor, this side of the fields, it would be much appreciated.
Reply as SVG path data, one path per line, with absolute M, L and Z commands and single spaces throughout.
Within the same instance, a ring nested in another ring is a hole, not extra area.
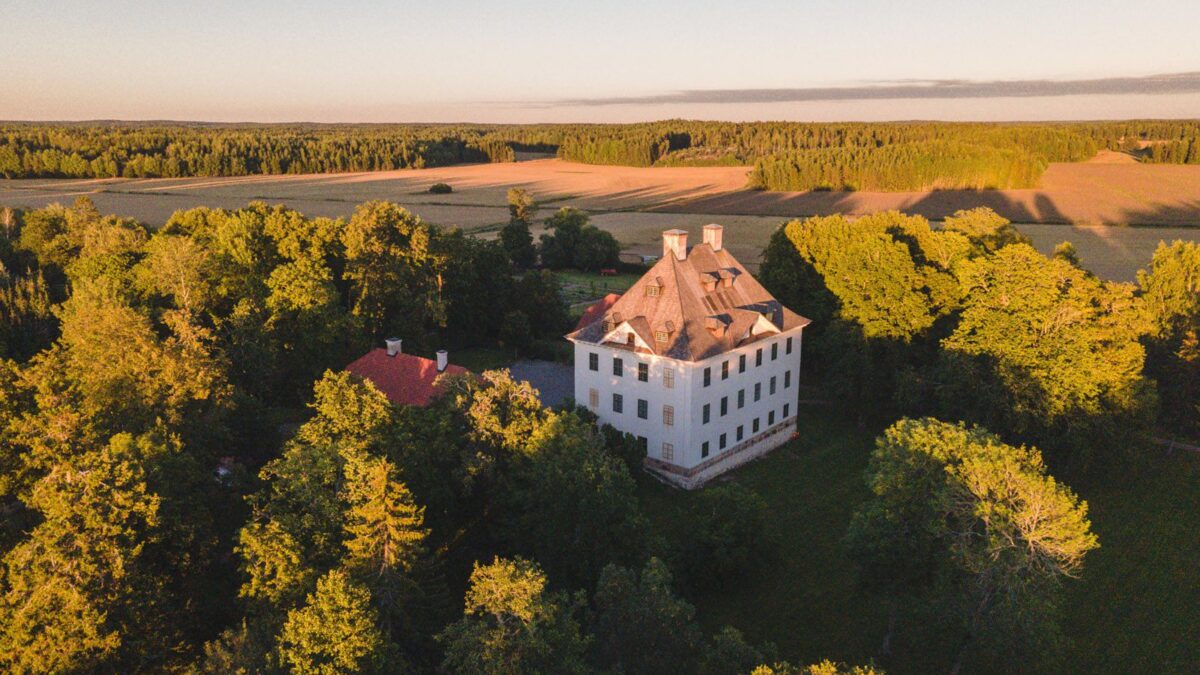
M 154 232 L 86 198 L 4 210 L 0 667 L 875 671 L 701 628 L 690 597 L 770 546 L 752 490 L 659 527 L 638 443 L 586 410 L 502 370 L 396 407 L 341 370 L 385 336 L 552 352 L 570 318 L 548 268 L 617 245 L 572 209 L 535 243 L 536 204 L 509 205 L 496 241 L 388 202 Z M 814 319 L 805 377 L 883 430 L 845 534 L 864 592 L 940 617 L 955 663 L 1054 668 L 1063 589 L 1103 544 L 1055 477 L 1195 437 L 1200 246 L 1164 244 L 1128 285 L 986 209 L 830 216 L 782 226 L 761 277 Z

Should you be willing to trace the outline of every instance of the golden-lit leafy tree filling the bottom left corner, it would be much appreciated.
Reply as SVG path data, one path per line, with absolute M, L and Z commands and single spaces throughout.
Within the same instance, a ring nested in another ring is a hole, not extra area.
M 137 631 L 139 556 L 160 498 L 128 437 L 55 465 L 28 506 L 42 518 L 5 555 L 0 664 L 17 673 L 97 668 Z

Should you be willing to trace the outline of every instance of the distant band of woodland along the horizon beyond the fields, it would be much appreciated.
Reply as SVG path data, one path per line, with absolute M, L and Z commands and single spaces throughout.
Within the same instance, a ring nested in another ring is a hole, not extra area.
M 632 125 L 0 125 L 4 178 L 337 173 L 511 162 L 752 166 L 758 190 L 1016 189 L 1100 149 L 1200 163 L 1200 121 Z

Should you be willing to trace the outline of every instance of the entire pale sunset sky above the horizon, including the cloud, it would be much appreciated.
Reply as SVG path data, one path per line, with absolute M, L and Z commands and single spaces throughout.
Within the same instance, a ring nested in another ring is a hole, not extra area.
M 1200 118 L 1200 0 L 0 0 L 0 119 Z

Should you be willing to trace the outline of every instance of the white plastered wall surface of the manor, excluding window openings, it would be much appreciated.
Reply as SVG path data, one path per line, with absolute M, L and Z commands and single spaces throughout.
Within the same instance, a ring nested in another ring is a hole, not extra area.
M 756 436 L 762 437 L 775 428 L 769 440 L 774 447 L 780 442 L 780 431 L 786 423 L 794 424 L 797 390 L 800 375 L 800 334 L 797 328 L 779 335 L 766 338 L 750 345 L 702 362 L 680 362 L 641 354 L 629 350 L 605 345 L 576 342 L 575 345 L 575 399 L 600 417 L 604 424 L 644 437 L 647 456 L 650 466 L 672 465 L 680 470 L 692 470 L 700 465 L 707 467 L 718 464 L 715 458 L 734 449 L 744 449 Z M 791 353 L 787 340 L 792 340 Z M 775 358 L 772 358 L 772 345 L 778 345 Z M 757 365 L 757 352 L 762 350 L 762 364 Z M 598 369 L 589 366 L 589 356 L 596 354 Z M 746 366 L 739 368 L 740 357 L 745 356 Z M 623 362 L 622 375 L 613 375 L 612 359 Z M 647 364 L 648 381 L 637 380 L 638 364 Z M 728 363 L 728 377 L 721 376 L 721 364 Z M 664 386 L 664 371 L 674 371 L 674 387 Z M 710 371 L 709 384 L 704 386 L 704 369 Z M 791 372 L 791 376 L 785 375 Z M 775 378 L 775 390 L 770 390 L 770 380 Z M 761 394 L 755 400 L 755 384 L 760 384 Z M 593 405 L 592 392 L 596 392 Z M 744 392 L 743 404 L 738 406 L 738 392 Z M 622 394 L 623 412 L 612 408 L 612 394 Z M 721 414 L 720 401 L 727 401 L 726 413 Z M 647 419 L 637 417 L 637 401 L 646 400 Z M 670 405 L 674 411 L 674 424 L 664 425 L 662 406 Z M 709 406 L 709 420 L 703 422 L 703 407 Z M 786 406 L 786 410 L 785 410 Z M 772 413 L 774 420 L 772 422 Z M 757 431 L 754 428 L 758 420 Z M 738 428 L 742 438 L 738 438 Z M 721 447 L 721 435 L 725 435 L 725 447 Z M 786 440 L 788 435 L 781 437 Z M 708 454 L 703 453 L 703 443 L 708 443 Z M 664 443 L 671 443 L 671 456 L 664 456 Z M 739 450 L 740 450 L 739 449 Z M 730 465 L 733 466 L 733 465 Z M 719 471 L 718 471 L 719 472 Z M 710 476 L 708 476 L 710 477 Z

